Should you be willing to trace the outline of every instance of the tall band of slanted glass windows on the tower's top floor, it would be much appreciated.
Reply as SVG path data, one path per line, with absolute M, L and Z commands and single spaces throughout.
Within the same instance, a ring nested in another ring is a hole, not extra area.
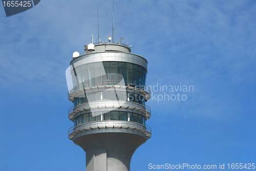
M 115 85 L 122 79 L 125 86 L 144 86 L 146 70 L 134 63 L 103 61 L 87 63 L 71 71 L 74 90 L 85 87 Z M 115 80 L 115 81 L 114 81 Z

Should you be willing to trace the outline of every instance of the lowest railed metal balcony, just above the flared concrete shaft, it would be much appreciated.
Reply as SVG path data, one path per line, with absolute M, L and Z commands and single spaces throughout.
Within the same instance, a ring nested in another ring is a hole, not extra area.
M 103 122 L 105 122 L 105 125 L 103 124 Z M 119 122 L 118 124 L 115 124 L 115 122 Z M 108 123 L 108 125 L 106 124 Z M 110 124 L 113 123 L 113 124 Z M 120 128 L 120 124 L 121 127 L 126 128 L 126 129 L 136 129 L 141 131 L 145 136 L 146 139 L 149 139 L 152 135 L 152 129 L 150 126 L 146 125 L 146 124 L 141 124 L 141 123 L 136 123 L 136 122 L 131 122 L 131 121 L 123 121 L 123 120 L 101 120 L 101 121 L 94 121 L 94 122 L 87 122 L 87 123 L 81 123 L 79 125 L 76 126 L 72 126 L 69 130 L 68 130 L 68 136 L 70 139 L 72 139 L 76 133 L 78 133 L 80 130 L 90 130 L 90 129 L 101 129 L 101 128 L 108 128 L 108 127 L 112 127 L 114 128 L 115 126 Z M 129 126 L 123 126 L 124 124 L 129 125 Z M 87 129 L 84 128 L 84 126 L 86 126 Z M 80 127 L 80 129 L 79 129 Z M 73 135 L 72 135 L 73 133 Z

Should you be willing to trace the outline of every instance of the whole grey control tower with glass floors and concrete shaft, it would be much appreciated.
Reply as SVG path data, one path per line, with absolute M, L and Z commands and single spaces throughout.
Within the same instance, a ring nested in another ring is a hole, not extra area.
M 111 39 L 111 37 L 109 37 Z M 98 42 L 73 53 L 66 71 L 69 139 L 86 152 L 87 171 L 130 170 L 136 149 L 151 137 L 145 105 L 147 60 L 120 42 Z

